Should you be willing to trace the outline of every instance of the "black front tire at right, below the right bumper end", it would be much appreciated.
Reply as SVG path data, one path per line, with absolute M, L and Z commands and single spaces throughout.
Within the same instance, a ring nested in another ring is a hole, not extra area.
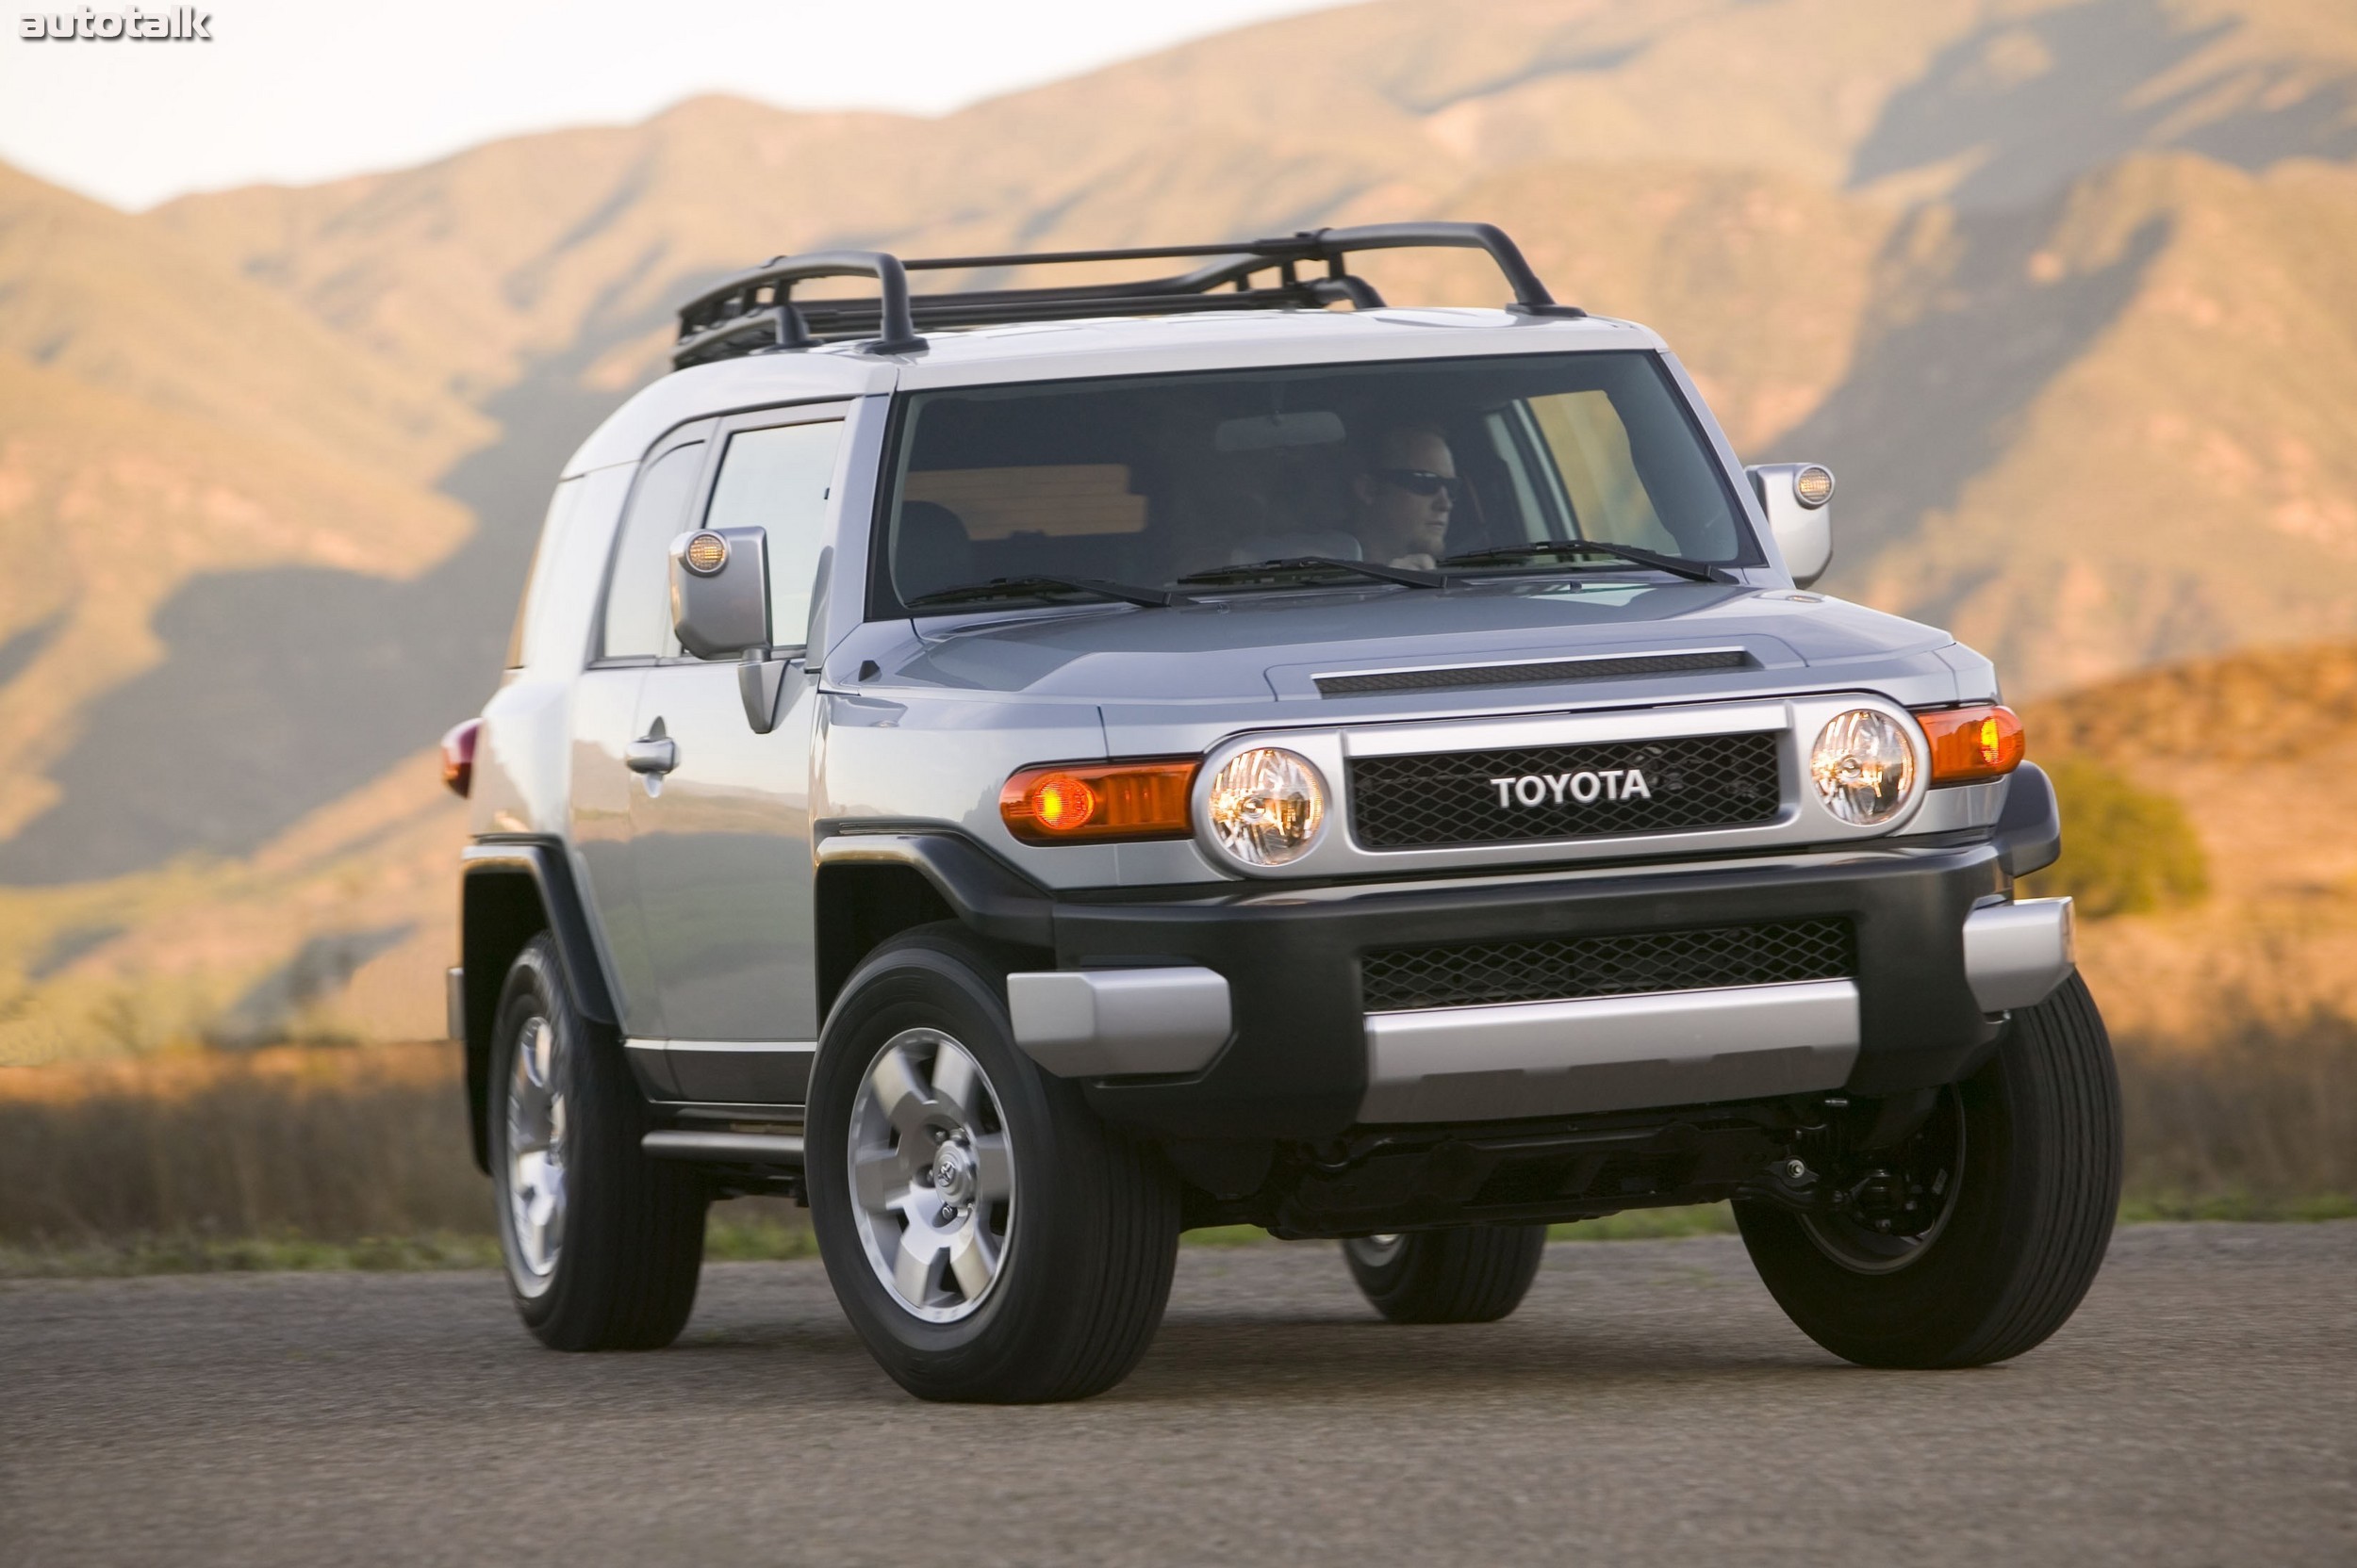
M 1952 1090 L 1961 1177 L 1940 1229 L 1890 1262 L 1772 1203 L 1735 1220 L 1768 1293 L 1810 1340 L 1881 1368 L 1987 1366 L 2069 1321 L 2119 1212 L 2119 1076 L 2072 975 L 2013 1015 L 1996 1055 Z M 1881 1267 L 1883 1271 L 1862 1271 Z

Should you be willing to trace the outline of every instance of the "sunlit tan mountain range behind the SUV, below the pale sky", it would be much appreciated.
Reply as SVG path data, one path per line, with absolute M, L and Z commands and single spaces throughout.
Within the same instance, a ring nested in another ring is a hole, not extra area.
M 1841 473 L 1827 586 L 2020 697 L 2357 636 L 2343 0 L 1388 0 L 933 120 L 693 99 L 137 217 L 0 170 L 0 1059 L 431 1026 L 420 749 L 698 283 L 1400 217 L 1657 325 Z

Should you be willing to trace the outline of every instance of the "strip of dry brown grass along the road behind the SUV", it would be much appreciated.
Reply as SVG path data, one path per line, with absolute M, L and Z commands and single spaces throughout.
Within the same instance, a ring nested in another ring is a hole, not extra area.
M 2206 1050 L 2126 1041 L 2119 1064 L 2128 1217 L 2357 1215 L 2357 1024 L 2251 1024 Z M 1702 1208 L 1563 1236 L 1721 1229 L 1725 1210 Z M 0 1276 L 483 1267 L 488 1231 L 448 1045 L 0 1071 Z M 787 1203 L 712 1215 L 709 1257 L 813 1250 Z

